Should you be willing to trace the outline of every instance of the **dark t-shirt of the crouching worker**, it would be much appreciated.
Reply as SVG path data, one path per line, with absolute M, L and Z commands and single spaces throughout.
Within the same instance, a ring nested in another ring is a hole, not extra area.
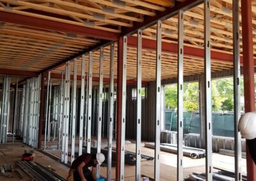
M 85 163 L 84 168 L 88 168 L 91 166 L 96 167 L 97 164 L 93 164 L 93 159 L 96 159 L 95 154 L 83 154 L 73 161 L 70 168 L 77 169 L 79 164 L 81 164 L 82 162 Z

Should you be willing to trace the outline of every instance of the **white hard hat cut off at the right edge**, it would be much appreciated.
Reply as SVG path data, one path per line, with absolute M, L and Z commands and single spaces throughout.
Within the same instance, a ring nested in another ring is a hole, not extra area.
M 256 138 L 256 113 L 244 113 L 239 119 L 238 127 L 241 135 L 247 140 Z

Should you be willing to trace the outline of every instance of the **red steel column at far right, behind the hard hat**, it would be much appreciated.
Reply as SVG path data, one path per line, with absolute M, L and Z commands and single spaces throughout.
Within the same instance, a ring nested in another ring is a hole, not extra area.
M 252 35 L 252 1 L 241 1 L 242 35 L 243 35 L 243 69 L 244 69 L 244 110 L 255 111 L 254 94 L 254 64 L 253 64 L 253 35 Z M 247 180 L 256 180 L 256 166 L 248 149 L 246 141 Z

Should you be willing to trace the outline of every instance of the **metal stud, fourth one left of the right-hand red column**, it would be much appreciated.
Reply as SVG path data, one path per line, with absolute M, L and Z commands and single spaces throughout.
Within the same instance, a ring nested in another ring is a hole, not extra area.
M 160 120 L 161 120 L 161 50 L 162 50 L 162 21 L 157 21 L 156 36 L 156 140 L 155 140 L 155 169 L 154 177 L 160 180 Z

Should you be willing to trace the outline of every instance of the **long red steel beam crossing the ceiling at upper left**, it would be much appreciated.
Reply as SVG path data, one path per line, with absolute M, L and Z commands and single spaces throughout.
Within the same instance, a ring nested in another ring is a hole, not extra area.
M 118 33 L 112 33 L 109 31 L 103 31 L 99 29 L 93 29 L 81 25 L 67 24 L 63 22 L 57 22 L 53 20 L 47 20 L 44 18 L 36 18 L 27 15 L 19 15 L 12 12 L 0 11 L 0 21 L 8 22 L 12 24 L 26 25 L 29 27 L 38 27 L 42 29 L 49 29 L 53 31 L 61 31 L 65 33 L 80 34 L 92 38 L 99 38 L 101 40 L 118 40 Z

